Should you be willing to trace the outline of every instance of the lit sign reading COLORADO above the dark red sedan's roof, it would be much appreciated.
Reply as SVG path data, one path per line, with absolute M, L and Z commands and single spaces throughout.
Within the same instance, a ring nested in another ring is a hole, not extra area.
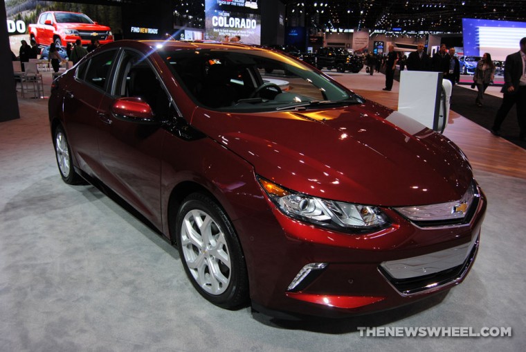
M 205 17 L 205 39 L 261 44 L 257 0 L 206 0 Z

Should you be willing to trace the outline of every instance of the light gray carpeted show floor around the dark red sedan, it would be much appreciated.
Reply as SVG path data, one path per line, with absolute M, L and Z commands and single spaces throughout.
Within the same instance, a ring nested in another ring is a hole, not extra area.
M 524 351 L 524 179 L 475 170 L 489 199 L 480 252 L 450 292 L 376 315 L 285 322 L 201 298 L 174 247 L 97 188 L 62 182 L 47 100 L 19 106 L 19 120 L 0 123 L 0 351 Z M 361 337 L 360 326 L 513 336 Z

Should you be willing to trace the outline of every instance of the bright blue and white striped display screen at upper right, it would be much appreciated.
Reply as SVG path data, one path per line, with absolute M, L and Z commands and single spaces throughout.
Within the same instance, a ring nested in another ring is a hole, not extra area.
M 490 53 L 493 60 L 504 61 L 519 50 L 520 39 L 526 37 L 526 22 L 489 19 L 462 19 L 464 55 Z

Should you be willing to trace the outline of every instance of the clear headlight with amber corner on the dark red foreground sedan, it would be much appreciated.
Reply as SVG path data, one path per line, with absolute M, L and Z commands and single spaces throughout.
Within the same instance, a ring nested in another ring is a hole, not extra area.
M 266 179 L 261 186 L 285 215 L 320 227 L 361 234 L 390 225 L 389 218 L 377 206 L 325 200 L 291 191 Z

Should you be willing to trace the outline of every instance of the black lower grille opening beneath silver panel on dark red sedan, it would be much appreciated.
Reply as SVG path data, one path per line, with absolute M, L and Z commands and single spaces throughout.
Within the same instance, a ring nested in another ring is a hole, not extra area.
M 429 290 L 434 290 L 441 286 L 447 285 L 449 283 L 455 283 L 457 281 L 460 281 L 466 275 L 467 271 L 469 270 L 469 267 L 471 267 L 471 264 L 475 259 L 477 251 L 478 238 L 477 240 L 475 240 L 475 243 L 473 243 L 473 248 L 471 248 L 471 252 L 469 252 L 469 255 L 464 260 L 464 263 L 455 267 L 448 268 L 446 270 L 442 270 L 440 272 L 435 272 L 433 274 L 423 276 L 397 279 L 391 276 L 388 273 L 388 271 L 381 265 L 378 269 L 379 272 L 381 272 L 381 274 L 386 278 L 386 280 L 390 283 L 390 285 L 392 285 L 393 288 L 395 288 L 403 296 L 409 296 L 412 294 L 424 293 Z

